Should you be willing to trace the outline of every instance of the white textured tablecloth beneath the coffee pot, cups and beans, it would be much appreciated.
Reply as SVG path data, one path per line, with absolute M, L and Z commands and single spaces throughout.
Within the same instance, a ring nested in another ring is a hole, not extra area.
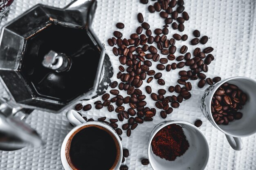
M 37 3 L 48 4 L 54 7 L 65 7 L 71 0 L 15 0 L 6 18 L 1 21 L 1 27 L 18 15 L 34 6 Z M 153 4 L 153 1 L 150 1 Z M 159 17 L 159 13 L 149 13 L 148 5 L 139 3 L 139 0 L 99 0 L 97 13 L 95 15 L 93 28 L 102 43 L 106 44 L 106 49 L 113 62 L 115 70 L 118 70 L 118 57 L 112 54 L 112 48 L 108 46 L 107 40 L 112 37 L 117 22 L 124 22 L 125 29 L 122 31 L 124 37 L 135 32 L 139 23 L 137 13 L 144 15 L 153 31 L 157 27 L 164 25 L 164 20 Z M 209 77 L 220 75 L 222 78 L 232 76 L 247 76 L 256 79 L 256 1 L 255 0 L 186 0 L 185 11 L 190 15 L 188 22 L 185 22 L 185 31 L 192 38 L 194 29 L 201 31 L 201 35 L 208 35 L 209 41 L 204 46 L 213 46 L 215 60 L 209 66 L 206 73 Z M 169 29 L 168 38 L 173 33 Z M 182 33 L 182 34 L 183 34 Z M 184 42 L 182 42 L 184 43 Z M 177 49 L 181 43 L 177 43 Z M 189 44 L 187 41 L 185 44 Z M 192 48 L 189 45 L 189 52 Z M 169 61 L 170 62 L 170 61 Z M 154 68 L 154 64 L 151 68 Z M 180 69 L 166 72 L 162 71 L 166 81 L 165 88 L 175 85 L 177 73 Z M 117 73 L 117 71 L 116 71 Z M 116 79 L 116 73 L 114 79 Z M 200 130 L 204 133 L 209 142 L 210 159 L 207 170 L 256 170 L 256 135 L 243 138 L 244 149 L 236 152 L 229 146 L 225 135 L 216 130 L 200 111 L 199 100 L 205 88 L 199 89 L 197 81 L 191 81 L 193 90 L 192 98 L 182 102 L 180 108 L 174 109 L 166 120 L 182 119 L 193 123 L 196 119 L 203 121 Z M 141 89 L 147 83 L 144 82 Z M 157 92 L 157 83 L 154 80 L 150 86 L 153 92 Z M 7 95 L 0 84 L 0 94 Z M 255 93 L 255 92 L 252 92 Z M 121 93 L 124 95 L 124 93 Z M 154 107 L 154 102 L 147 95 L 148 107 Z M 83 104 L 92 104 L 94 99 Z M 68 109 L 67 109 L 68 110 Z M 159 110 L 157 110 L 159 111 Z M 93 109 L 82 112 L 86 117 L 97 119 L 106 116 L 116 118 L 116 113 L 109 113 L 107 108 L 101 110 Z M 127 121 L 127 120 L 125 120 Z M 131 137 L 122 135 L 124 148 L 130 150 L 130 156 L 125 163 L 129 170 L 151 170 L 150 165 L 142 166 L 141 158 L 147 157 L 147 142 L 150 131 L 163 119 L 154 117 L 153 122 L 146 122 L 132 130 Z M 46 145 L 41 148 L 26 147 L 12 152 L 0 151 L 0 170 L 62 170 L 60 159 L 61 143 L 71 126 L 65 118 L 65 111 L 59 114 L 45 113 L 34 110 L 27 118 L 26 122 L 35 128 Z M 119 124 L 120 126 L 120 124 Z

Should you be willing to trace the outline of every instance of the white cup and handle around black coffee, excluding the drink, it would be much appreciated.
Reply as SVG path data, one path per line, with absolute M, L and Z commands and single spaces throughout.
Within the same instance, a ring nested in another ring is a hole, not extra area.
M 123 148 L 121 145 L 121 140 L 115 130 L 109 126 L 106 123 L 100 122 L 100 121 L 89 121 L 86 122 L 79 113 L 77 113 L 75 110 L 70 110 L 66 114 L 67 119 L 70 121 L 71 124 L 73 124 L 74 127 L 65 137 L 62 146 L 61 146 L 61 163 L 63 165 L 63 168 L 65 170 L 76 170 L 74 167 L 72 168 L 72 165 L 70 165 L 70 161 L 67 160 L 67 143 L 70 142 L 70 137 L 77 132 L 77 130 L 82 130 L 83 128 L 90 127 L 90 126 L 100 126 L 104 130 L 108 130 L 115 141 L 117 141 L 117 160 L 115 161 L 113 167 L 110 170 L 119 170 L 123 158 Z M 100 163 L 100 162 L 99 162 Z

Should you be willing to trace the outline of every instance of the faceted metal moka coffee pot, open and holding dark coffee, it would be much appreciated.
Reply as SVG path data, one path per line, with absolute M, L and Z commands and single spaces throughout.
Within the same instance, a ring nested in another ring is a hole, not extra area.
M 43 144 L 23 121 L 34 109 L 59 113 L 105 93 L 113 68 L 91 28 L 96 7 L 96 0 L 37 4 L 2 28 L 0 77 L 9 98 L 0 100 L 0 150 Z

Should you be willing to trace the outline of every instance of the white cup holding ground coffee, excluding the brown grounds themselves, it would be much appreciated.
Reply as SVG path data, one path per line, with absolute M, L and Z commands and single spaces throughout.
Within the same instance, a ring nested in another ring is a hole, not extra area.
M 174 161 L 167 161 L 156 156 L 151 141 L 156 133 L 170 124 L 182 126 L 189 148 Z M 184 121 L 163 121 L 153 128 L 148 141 L 148 160 L 153 170 L 204 170 L 209 160 L 209 145 L 204 134 L 193 124 Z

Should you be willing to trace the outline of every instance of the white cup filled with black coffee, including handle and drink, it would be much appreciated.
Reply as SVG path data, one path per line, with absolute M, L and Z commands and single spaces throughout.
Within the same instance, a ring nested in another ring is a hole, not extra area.
M 61 146 L 65 170 L 118 170 L 123 149 L 115 130 L 99 121 L 86 122 L 75 110 L 66 114 L 75 127 Z

